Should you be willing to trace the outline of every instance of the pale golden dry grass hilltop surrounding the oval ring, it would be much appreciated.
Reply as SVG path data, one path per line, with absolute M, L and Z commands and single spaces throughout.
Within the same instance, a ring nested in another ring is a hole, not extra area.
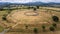
M 27 16 L 24 13 L 29 12 L 29 13 L 34 13 L 32 10 L 18 10 L 15 12 L 12 12 L 10 15 L 8 15 L 8 20 L 12 20 L 13 22 L 20 21 L 21 24 L 36 24 L 36 23 L 48 23 L 51 15 L 49 13 L 45 13 L 44 11 L 37 11 L 39 15 L 37 16 Z M 51 19 L 50 19 L 51 20 Z M 35 23 L 36 22 L 36 23 Z

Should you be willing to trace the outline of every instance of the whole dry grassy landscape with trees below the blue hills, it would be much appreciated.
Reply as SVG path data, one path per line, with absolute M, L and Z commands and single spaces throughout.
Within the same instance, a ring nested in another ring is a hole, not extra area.
M 60 8 L 21 6 L 0 10 L 1 34 L 60 34 Z

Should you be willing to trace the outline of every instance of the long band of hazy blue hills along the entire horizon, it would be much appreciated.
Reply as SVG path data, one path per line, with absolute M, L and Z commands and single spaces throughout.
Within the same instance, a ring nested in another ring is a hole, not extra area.
M 49 3 L 44 3 L 44 2 L 29 2 L 29 3 L 0 2 L 0 8 L 2 8 L 2 7 L 8 7 L 10 5 L 60 7 L 60 3 L 54 3 L 54 2 L 49 2 Z

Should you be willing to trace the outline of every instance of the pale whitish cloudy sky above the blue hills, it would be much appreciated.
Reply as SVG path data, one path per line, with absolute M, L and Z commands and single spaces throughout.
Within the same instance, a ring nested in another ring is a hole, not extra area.
M 28 3 L 28 2 L 56 2 L 60 3 L 60 0 L 0 0 L 0 2 L 12 2 L 12 3 Z

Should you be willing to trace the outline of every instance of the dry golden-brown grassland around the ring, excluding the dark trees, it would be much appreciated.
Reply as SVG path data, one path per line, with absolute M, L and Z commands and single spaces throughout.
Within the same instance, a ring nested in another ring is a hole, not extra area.
M 0 11 L 0 24 L 4 29 L 10 28 L 5 34 L 35 34 L 34 28 L 37 28 L 38 34 L 59 34 L 60 31 L 60 8 L 40 7 L 34 11 L 33 9 L 18 9 L 11 13 L 8 11 Z M 7 20 L 2 20 L 3 15 L 7 15 Z M 52 16 L 58 16 L 59 22 L 54 22 Z M 53 23 L 57 24 L 55 32 L 51 32 L 49 27 Z M 43 32 L 42 25 L 46 28 Z

